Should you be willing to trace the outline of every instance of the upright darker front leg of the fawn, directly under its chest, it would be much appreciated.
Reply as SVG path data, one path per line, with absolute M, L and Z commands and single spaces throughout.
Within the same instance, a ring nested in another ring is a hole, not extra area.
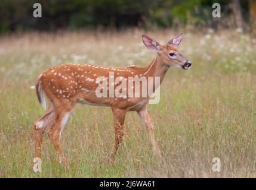
M 115 160 L 116 151 L 118 151 L 118 146 L 124 138 L 124 121 L 125 121 L 125 115 L 127 111 L 122 109 L 112 108 L 112 113 L 113 113 L 114 129 L 115 129 L 115 144 L 113 145 L 110 159 L 113 162 Z

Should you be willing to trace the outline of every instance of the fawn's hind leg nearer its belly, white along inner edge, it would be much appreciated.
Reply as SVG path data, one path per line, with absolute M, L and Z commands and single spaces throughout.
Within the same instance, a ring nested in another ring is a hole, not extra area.
M 53 125 L 51 125 L 47 131 L 48 137 L 50 138 L 51 143 L 53 143 L 54 148 L 57 151 L 59 162 L 63 163 L 65 167 L 68 167 L 68 165 L 67 165 L 67 159 L 64 156 L 64 153 L 61 148 L 60 137 L 61 137 L 61 132 L 66 126 L 67 119 L 69 118 L 70 112 L 71 110 L 63 110 L 63 109 L 61 109 L 61 112 L 58 112 L 58 113 L 55 112 Z

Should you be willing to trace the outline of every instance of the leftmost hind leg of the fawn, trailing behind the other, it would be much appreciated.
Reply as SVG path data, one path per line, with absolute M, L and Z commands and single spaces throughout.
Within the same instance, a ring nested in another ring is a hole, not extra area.
M 51 104 L 45 114 L 33 124 L 34 133 L 34 155 L 41 157 L 41 144 L 45 130 L 51 124 L 54 118 L 54 107 Z

